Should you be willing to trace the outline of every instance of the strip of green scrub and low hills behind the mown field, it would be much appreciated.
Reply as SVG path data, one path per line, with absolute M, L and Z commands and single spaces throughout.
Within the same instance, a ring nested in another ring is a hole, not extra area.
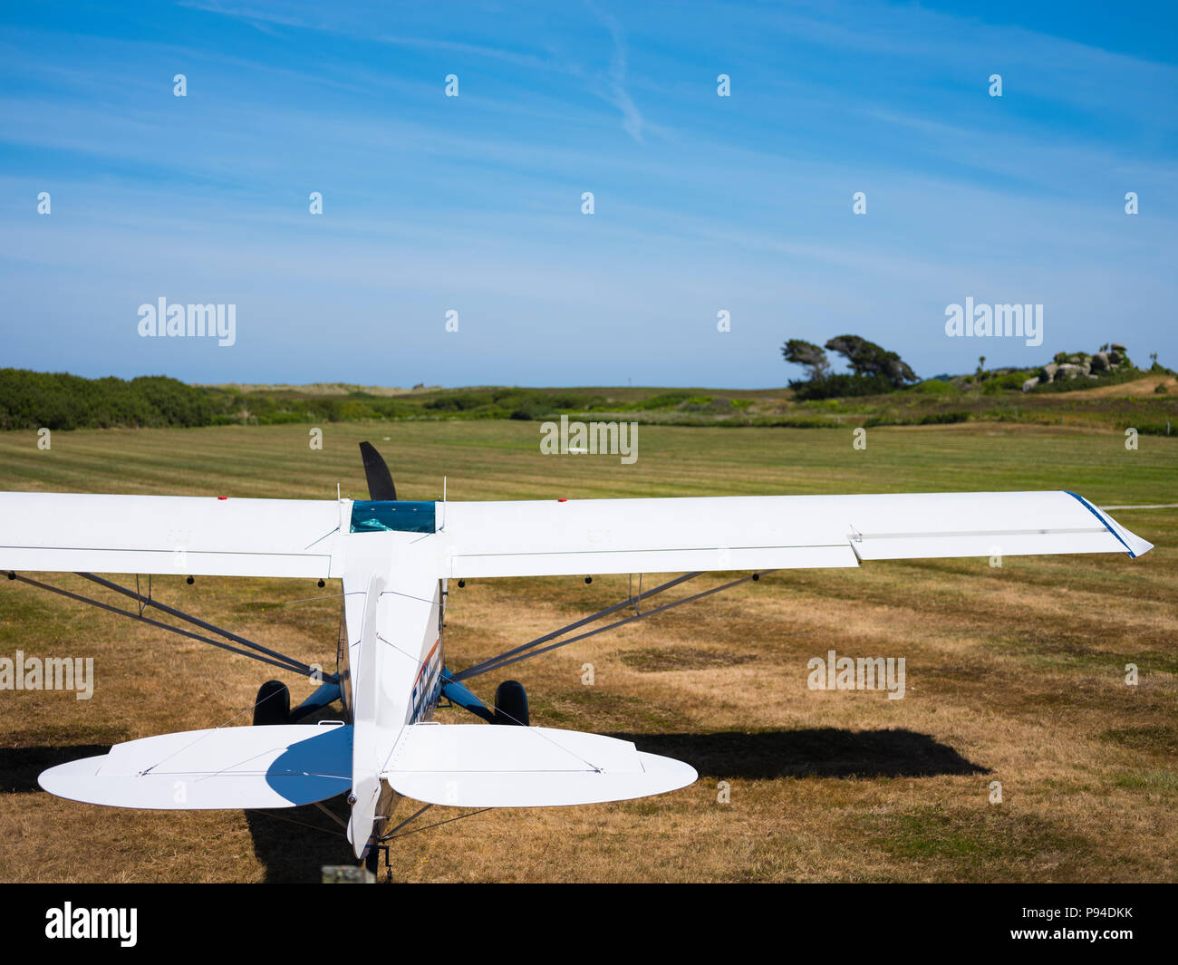
M 1124 369 L 1023 392 L 1025 376 L 1033 374 L 1004 369 L 925 379 L 881 395 L 808 398 L 796 388 L 186 385 L 163 376 L 86 379 L 0 369 L 0 431 L 537 422 L 568 415 L 643 425 L 846 429 L 997 422 L 1178 435 L 1178 381 L 1170 369 Z

